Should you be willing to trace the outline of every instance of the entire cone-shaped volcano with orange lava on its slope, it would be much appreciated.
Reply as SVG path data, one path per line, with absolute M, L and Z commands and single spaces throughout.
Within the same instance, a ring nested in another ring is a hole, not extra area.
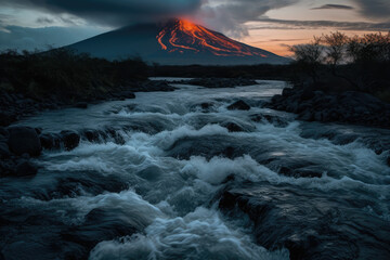
M 139 24 L 68 46 L 108 60 L 140 56 L 162 65 L 285 64 L 289 60 L 184 20 Z

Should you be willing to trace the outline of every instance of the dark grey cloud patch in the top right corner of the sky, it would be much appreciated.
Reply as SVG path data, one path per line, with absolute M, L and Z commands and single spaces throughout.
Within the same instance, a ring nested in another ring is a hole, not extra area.
M 373 18 L 385 18 L 390 21 L 389 0 L 353 0 L 360 8 L 363 15 Z

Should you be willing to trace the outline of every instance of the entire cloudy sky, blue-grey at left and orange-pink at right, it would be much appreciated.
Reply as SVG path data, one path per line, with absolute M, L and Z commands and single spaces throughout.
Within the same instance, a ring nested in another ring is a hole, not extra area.
M 0 50 L 61 47 L 172 16 L 288 55 L 313 35 L 389 31 L 390 0 L 0 0 Z

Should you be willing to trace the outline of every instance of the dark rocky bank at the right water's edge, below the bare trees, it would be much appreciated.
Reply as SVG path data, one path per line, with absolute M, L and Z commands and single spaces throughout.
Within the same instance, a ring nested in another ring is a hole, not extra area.
M 390 128 L 390 104 L 363 92 L 346 91 L 335 94 L 295 88 L 273 96 L 268 107 L 296 113 L 298 119 L 306 121 L 337 121 Z

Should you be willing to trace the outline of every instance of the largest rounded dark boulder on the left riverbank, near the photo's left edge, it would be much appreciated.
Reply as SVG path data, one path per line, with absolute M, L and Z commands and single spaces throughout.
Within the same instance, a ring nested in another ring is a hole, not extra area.
M 8 141 L 10 151 L 16 155 L 29 154 L 30 156 L 39 156 L 42 146 L 34 128 L 29 127 L 10 127 L 10 138 Z

